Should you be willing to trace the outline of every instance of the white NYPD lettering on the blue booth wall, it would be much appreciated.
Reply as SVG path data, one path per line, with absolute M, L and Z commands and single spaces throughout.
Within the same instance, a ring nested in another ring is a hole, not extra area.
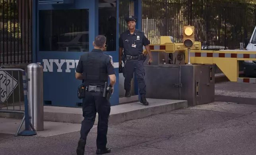
M 43 64 L 40 62 L 37 62 L 38 64 L 41 64 L 43 66 L 43 72 L 66 72 L 70 73 L 76 72 L 76 67 L 78 65 L 79 60 L 70 60 L 70 59 L 43 59 Z M 57 67 L 57 70 L 53 70 Z M 114 62 L 114 68 L 118 68 L 118 62 Z M 66 68 L 66 69 L 63 69 Z

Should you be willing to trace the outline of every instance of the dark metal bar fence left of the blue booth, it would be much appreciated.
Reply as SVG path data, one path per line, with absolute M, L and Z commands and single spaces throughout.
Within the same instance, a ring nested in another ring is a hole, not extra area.
M 31 13 L 32 0 L 0 0 L 0 66 L 31 62 Z

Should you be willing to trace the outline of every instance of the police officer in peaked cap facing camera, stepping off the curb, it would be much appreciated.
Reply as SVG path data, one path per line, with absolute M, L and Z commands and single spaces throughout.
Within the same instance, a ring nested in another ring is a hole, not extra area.
M 144 70 L 144 60 L 146 56 L 143 54 L 143 45 L 149 54 L 148 63 L 152 62 L 152 55 L 149 48 L 150 41 L 147 36 L 141 30 L 135 29 L 136 20 L 135 16 L 126 17 L 126 23 L 128 30 L 123 32 L 119 38 L 119 66 L 122 64 L 121 57 L 123 53 L 123 75 L 124 75 L 124 89 L 125 97 L 130 97 L 131 80 L 133 74 L 138 79 L 140 102 L 148 106 L 148 102 L 145 98 L 146 95 L 146 85 L 145 85 L 145 70 Z M 124 49 L 124 52 L 123 52 Z

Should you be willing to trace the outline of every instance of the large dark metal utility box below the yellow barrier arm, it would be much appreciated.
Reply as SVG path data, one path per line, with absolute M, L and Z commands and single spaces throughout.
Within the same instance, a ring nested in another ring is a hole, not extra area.
M 188 106 L 214 102 L 213 64 L 145 65 L 147 98 L 187 100 Z

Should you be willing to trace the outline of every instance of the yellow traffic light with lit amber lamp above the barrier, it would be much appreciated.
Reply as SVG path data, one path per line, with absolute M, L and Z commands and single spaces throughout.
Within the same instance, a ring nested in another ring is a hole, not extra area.
M 193 48 L 195 42 L 195 27 L 184 26 L 183 27 L 183 45 L 186 48 Z

